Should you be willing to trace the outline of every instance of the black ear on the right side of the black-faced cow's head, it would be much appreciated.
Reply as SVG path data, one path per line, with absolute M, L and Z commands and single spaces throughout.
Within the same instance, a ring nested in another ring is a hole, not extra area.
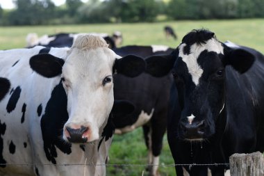
M 255 61 L 255 56 L 245 49 L 229 49 L 224 54 L 224 64 L 231 65 L 240 74 L 247 72 Z

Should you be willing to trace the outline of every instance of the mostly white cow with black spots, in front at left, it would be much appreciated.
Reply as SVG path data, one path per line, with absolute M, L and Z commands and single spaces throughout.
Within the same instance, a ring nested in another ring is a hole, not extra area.
M 117 102 L 110 114 L 113 72 L 144 70 L 142 58 L 121 58 L 94 35 L 71 48 L 1 51 L 10 91 L 0 102 L 0 175 L 106 175 L 111 117 L 131 111 Z

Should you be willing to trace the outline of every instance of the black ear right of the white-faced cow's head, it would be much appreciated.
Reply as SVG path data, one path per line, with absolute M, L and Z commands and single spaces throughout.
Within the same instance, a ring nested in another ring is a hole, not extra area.
M 143 58 L 135 55 L 127 55 L 115 59 L 113 71 L 124 74 L 126 77 L 137 77 L 145 71 L 146 63 Z

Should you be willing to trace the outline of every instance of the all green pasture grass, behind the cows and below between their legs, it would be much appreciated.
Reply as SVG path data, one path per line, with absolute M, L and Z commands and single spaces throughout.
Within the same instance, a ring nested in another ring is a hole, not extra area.
M 176 31 L 178 40 L 166 39 L 163 27 L 170 25 Z M 13 49 L 26 46 L 28 33 L 54 34 L 67 33 L 109 33 L 121 31 L 124 45 L 168 45 L 176 47 L 183 36 L 192 29 L 209 29 L 214 31 L 218 40 L 224 42 L 231 40 L 239 45 L 252 47 L 264 53 L 264 19 L 239 19 L 239 20 L 209 20 L 209 21 L 179 21 L 140 24 L 87 24 L 73 26 L 19 26 L 0 27 L 0 49 Z M 173 163 L 166 136 L 163 139 L 163 152 L 160 156 L 160 175 L 175 175 L 174 167 L 167 166 Z M 110 164 L 107 175 L 147 175 L 147 149 L 143 141 L 142 129 L 115 136 L 110 148 Z M 132 164 L 132 166 L 118 166 L 119 164 Z

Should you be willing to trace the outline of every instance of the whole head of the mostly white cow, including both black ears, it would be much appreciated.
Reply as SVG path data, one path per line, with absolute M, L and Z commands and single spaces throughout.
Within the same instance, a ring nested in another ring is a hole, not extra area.
M 103 38 L 87 34 L 76 38 L 65 59 L 38 54 L 31 58 L 30 65 L 44 77 L 59 76 L 63 81 L 69 114 L 63 138 L 74 143 L 99 139 L 99 130 L 107 122 L 114 102 L 114 72 L 135 77 L 145 70 L 142 58 L 120 58 L 108 49 Z

